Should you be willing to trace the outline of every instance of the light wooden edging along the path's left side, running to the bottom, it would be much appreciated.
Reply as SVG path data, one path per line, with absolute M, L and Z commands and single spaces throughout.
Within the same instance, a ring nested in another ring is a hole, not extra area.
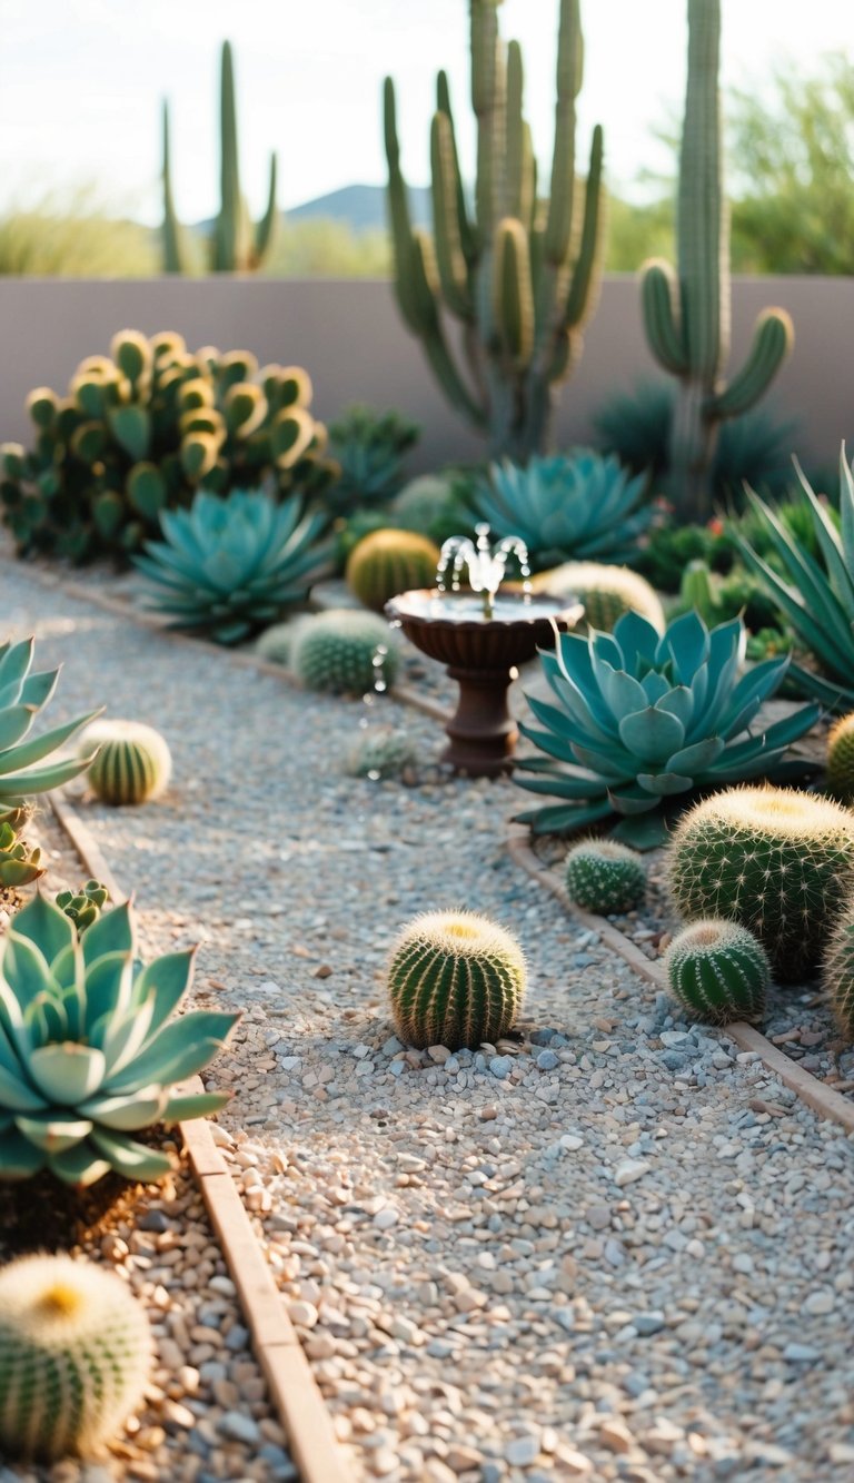
M 85 871 L 108 888 L 113 902 L 128 900 L 98 842 L 68 799 L 61 793 L 50 793 L 49 801 Z M 202 1091 L 202 1080 L 193 1077 L 182 1090 Z M 335 1439 L 311 1366 L 285 1311 L 228 1166 L 214 1142 L 211 1126 L 205 1118 L 194 1118 L 178 1127 L 299 1477 L 302 1483 L 351 1483 L 353 1474 Z

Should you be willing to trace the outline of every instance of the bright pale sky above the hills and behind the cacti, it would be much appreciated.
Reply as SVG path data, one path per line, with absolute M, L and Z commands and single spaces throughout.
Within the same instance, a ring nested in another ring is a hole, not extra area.
M 547 166 L 559 0 L 504 0 L 522 42 L 526 111 Z M 686 0 L 583 0 L 578 150 L 605 128 L 608 182 L 640 196 L 666 171 L 651 131 L 679 117 Z M 381 85 L 399 90 L 403 169 L 428 179 L 434 76 L 451 79 L 471 160 L 467 0 L 0 0 L 0 212 L 95 187 L 110 209 L 160 215 L 160 99 L 172 107 L 173 181 L 185 221 L 218 200 L 218 52 L 234 44 L 243 187 L 255 214 L 279 151 L 288 208 L 347 184 L 384 184 Z M 761 89 L 775 64 L 808 74 L 854 52 L 851 0 L 724 0 L 722 82 Z M 466 168 L 466 166 L 464 166 Z M 473 174 L 473 171 L 469 171 Z

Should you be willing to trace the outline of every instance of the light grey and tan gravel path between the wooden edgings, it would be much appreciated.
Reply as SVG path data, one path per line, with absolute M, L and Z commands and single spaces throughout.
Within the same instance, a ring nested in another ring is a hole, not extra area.
M 202 940 L 199 1003 L 246 1008 L 218 1139 L 356 1476 L 850 1479 L 850 1142 L 512 866 L 517 789 L 356 782 L 359 703 L 3 592 L 65 660 L 52 709 L 173 750 L 163 801 L 86 823 L 147 949 Z M 383 713 L 431 762 L 436 724 Z M 522 939 L 523 1035 L 406 1053 L 387 945 L 455 905 Z

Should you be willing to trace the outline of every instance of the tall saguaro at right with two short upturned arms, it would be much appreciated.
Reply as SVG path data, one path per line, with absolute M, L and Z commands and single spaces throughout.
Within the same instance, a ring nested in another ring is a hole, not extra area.
M 646 337 L 679 378 L 670 427 L 670 494 L 688 519 L 712 515 L 712 458 L 722 418 L 740 417 L 768 390 L 793 344 L 783 308 L 765 308 L 741 371 L 724 383 L 729 356 L 729 214 L 721 151 L 721 0 L 688 0 L 688 87 L 679 156 L 678 273 L 652 260 L 642 270 Z

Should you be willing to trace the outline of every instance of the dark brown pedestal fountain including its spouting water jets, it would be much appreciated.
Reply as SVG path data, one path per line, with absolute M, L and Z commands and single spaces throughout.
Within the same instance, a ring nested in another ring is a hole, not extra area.
M 385 605 L 385 612 L 460 685 L 457 710 L 445 727 L 449 742 L 442 759 L 469 777 L 497 777 L 513 767 L 519 737 L 507 704 L 517 666 L 534 658 L 538 648 L 552 648 L 555 635 L 574 627 L 584 610 L 568 598 L 531 595 L 528 550 L 517 535 L 491 546 L 489 526 L 474 529 L 476 544 L 463 535 L 445 541 L 436 587 L 403 592 Z M 510 556 L 519 561 L 522 592 L 498 593 Z

